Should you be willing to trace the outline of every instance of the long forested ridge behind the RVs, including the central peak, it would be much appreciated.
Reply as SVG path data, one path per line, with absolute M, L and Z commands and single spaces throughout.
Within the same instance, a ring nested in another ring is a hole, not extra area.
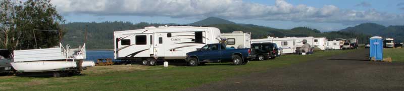
M 276 29 L 252 24 L 236 24 L 234 22 L 229 23 L 229 21 L 220 18 L 207 18 L 207 19 L 208 20 L 201 20 L 197 21 L 197 23 L 192 24 L 200 24 L 204 23 L 204 21 L 216 22 L 214 24 L 207 23 L 210 25 L 206 26 L 217 27 L 221 30 L 222 33 L 231 33 L 232 31 L 251 32 L 252 38 L 266 38 L 267 36 L 275 36 L 275 37 L 314 36 L 314 37 L 327 37 L 328 39 L 357 37 L 359 38 L 360 43 L 365 43 L 368 40 L 367 38 L 370 37 L 369 35 L 352 32 L 341 32 L 341 31 L 320 32 L 317 29 L 312 29 L 308 27 L 296 27 L 292 29 Z M 132 24 L 130 22 L 68 23 L 68 24 L 62 24 L 62 27 L 64 27 L 67 30 L 67 33 L 65 34 L 63 40 L 64 44 L 70 44 L 73 48 L 78 47 L 78 45 L 82 44 L 84 40 L 85 29 L 88 28 L 87 41 L 86 41 L 87 49 L 113 49 L 114 31 L 141 29 L 146 26 L 160 26 L 160 25 L 177 25 L 177 24 L 149 24 L 149 23 Z

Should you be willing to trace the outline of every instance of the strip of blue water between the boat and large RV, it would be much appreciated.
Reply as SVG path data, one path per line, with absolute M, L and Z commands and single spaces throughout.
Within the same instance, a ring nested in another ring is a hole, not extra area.
M 111 50 L 87 50 L 86 60 L 97 62 L 97 59 L 111 58 L 112 61 L 121 61 L 114 59 L 114 51 Z

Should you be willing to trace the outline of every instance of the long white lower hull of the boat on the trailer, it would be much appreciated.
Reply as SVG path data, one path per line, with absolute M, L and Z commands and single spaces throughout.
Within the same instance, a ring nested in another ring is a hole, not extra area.
M 77 67 L 76 62 L 72 61 L 14 62 L 11 65 L 19 72 L 60 71 L 66 68 Z

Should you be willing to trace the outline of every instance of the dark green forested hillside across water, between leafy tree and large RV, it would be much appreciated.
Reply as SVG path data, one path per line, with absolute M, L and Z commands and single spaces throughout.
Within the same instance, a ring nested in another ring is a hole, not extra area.
M 141 29 L 147 26 L 177 25 L 177 24 L 149 24 L 130 22 L 75 22 L 62 24 L 69 30 L 63 37 L 64 44 L 70 44 L 77 48 L 84 43 L 85 30 L 87 29 L 86 49 L 113 49 L 114 31 Z

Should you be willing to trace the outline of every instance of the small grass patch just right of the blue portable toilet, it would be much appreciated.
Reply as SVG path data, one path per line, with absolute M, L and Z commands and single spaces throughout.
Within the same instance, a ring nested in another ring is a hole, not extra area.
M 404 62 L 404 49 L 383 49 L 383 58 L 391 57 L 393 62 Z

